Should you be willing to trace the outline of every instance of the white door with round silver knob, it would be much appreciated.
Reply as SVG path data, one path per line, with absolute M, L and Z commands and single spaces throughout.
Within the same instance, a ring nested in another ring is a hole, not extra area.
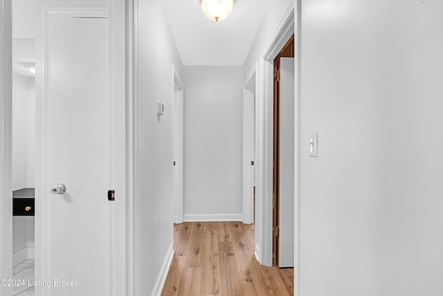
M 51 281 L 51 288 L 45 290 L 51 295 L 109 295 L 105 10 L 46 13 L 45 53 L 43 264 L 45 279 Z M 56 184 L 66 185 L 66 193 L 51 193 Z

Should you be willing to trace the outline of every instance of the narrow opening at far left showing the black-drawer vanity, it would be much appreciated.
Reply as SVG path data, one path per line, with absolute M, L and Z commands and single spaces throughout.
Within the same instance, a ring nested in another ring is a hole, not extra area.
M 13 7 L 17 16 L 22 5 Z M 12 277 L 35 278 L 35 37 L 12 18 Z M 14 286 L 13 295 L 29 290 Z

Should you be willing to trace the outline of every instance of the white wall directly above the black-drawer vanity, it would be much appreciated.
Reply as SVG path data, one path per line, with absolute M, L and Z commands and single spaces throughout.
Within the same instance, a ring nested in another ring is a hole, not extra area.
M 35 79 L 12 74 L 12 190 L 34 187 Z

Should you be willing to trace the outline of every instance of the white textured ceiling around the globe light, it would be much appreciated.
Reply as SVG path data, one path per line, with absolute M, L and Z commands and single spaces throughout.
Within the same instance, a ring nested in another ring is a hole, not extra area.
M 242 65 L 269 0 L 236 0 L 227 19 L 215 22 L 199 0 L 162 0 L 172 35 L 186 65 Z

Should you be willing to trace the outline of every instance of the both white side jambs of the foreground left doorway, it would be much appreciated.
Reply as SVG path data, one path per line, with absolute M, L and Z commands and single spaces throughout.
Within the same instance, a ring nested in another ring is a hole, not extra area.
M 116 201 L 111 207 L 110 231 L 111 264 L 110 294 L 132 295 L 133 278 L 133 180 L 132 180 L 132 1 L 109 0 L 109 96 L 114 105 L 113 153 L 115 162 Z M 89 8 L 91 9 L 91 8 Z M 11 0 L 0 1 L 0 277 L 12 278 L 12 10 Z M 126 54 L 128 52 L 128 54 Z M 117 139 L 117 140 L 116 140 Z M 37 155 L 37 158 L 39 155 Z M 43 162 L 44 159 L 40 159 Z M 44 184 L 44 183 L 42 183 Z M 42 207 L 43 208 L 43 207 Z M 114 216 L 113 216 L 114 215 Z M 36 223 L 37 225 L 37 223 Z M 115 227 L 114 227 L 115 226 Z M 38 226 L 37 226 L 38 227 Z M 36 235 L 39 235 L 39 229 Z M 44 241 L 44 238 L 40 239 Z M 36 240 L 37 243 L 37 240 Z M 43 246 L 36 250 L 40 258 L 36 268 L 44 272 L 41 254 Z M 37 245 L 36 245 L 37 248 Z M 39 254 L 38 254 L 39 253 Z M 37 259 L 38 260 L 38 259 Z M 38 277 L 36 277 L 37 279 Z M 39 291 L 36 290 L 38 295 Z M 10 295 L 11 289 L 0 289 L 0 295 Z

